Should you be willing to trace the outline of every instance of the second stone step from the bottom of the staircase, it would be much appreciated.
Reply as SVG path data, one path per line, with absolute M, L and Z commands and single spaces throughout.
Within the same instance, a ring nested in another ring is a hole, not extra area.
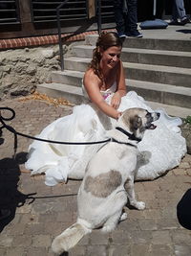
M 54 71 L 53 82 L 70 84 L 81 87 L 84 72 Z M 179 105 L 191 108 L 191 88 L 171 84 L 126 80 L 127 90 L 134 90 L 147 101 L 159 102 L 166 105 Z

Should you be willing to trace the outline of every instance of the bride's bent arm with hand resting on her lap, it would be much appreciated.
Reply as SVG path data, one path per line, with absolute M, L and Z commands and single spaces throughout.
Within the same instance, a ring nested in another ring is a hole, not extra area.
M 125 75 L 124 75 L 124 68 L 122 65 L 122 61 L 118 61 L 118 68 L 117 68 L 117 91 L 114 94 L 111 105 L 116 109 L 120 105 L 121 97 L 126 95 L 126 84 L 125 84 Z

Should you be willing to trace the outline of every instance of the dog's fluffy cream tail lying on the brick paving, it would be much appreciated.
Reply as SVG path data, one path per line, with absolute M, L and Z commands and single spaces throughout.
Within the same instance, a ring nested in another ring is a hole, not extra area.
M 92 229 L 84 225 L 83 221 L 77 221 L 67 228 L 59 236 L 54 238 L 52 249 L 56 254 L 61 254 L 74 247 L 86 234 L 91 233 Z

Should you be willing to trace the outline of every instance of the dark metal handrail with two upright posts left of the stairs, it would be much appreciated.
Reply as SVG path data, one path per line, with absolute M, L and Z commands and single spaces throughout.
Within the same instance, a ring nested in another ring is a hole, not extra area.
M 59 54 L 60 54 L 60 62 L 61 62 L 61 71 L 64 70 L 64 55 L 62 49 L 62 36 L 61 36 L 61 25 L 60 25 L 60 9 L 68 2 L 69 0 L 65 0 L 56 8 L 57 14 L 57 30 L 58 30 L 58 42 L 59 42 Z M 97 2 L 97 32 L 98 35 L 101 33 L 101 0 L 96 0 Z

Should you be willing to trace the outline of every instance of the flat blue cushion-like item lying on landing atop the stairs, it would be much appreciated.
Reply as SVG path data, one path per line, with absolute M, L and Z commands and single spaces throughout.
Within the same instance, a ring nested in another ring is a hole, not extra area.
M 168 23 L 162 19 L 154 19 L 154 20 L 145 20 L 142 21 L 139 25 L 141 30 L 156 30 L 156 29 L 166 29 L 168 27 Z

